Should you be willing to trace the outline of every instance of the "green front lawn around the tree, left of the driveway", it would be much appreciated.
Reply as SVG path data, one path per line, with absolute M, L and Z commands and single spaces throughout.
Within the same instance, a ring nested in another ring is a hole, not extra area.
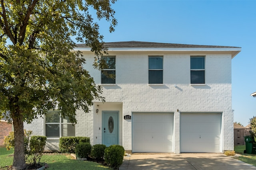
M 5 166 L 12 165 L 14 150 L 6 150 L 0 147 L 0 170 L 4 170 Z M 79 161 L 72 159 L 70 155 L 43 155 L 40 162 L 46 162 L 49 170 L 110 170 L 106 166 L 102 166 L 96 162 Z

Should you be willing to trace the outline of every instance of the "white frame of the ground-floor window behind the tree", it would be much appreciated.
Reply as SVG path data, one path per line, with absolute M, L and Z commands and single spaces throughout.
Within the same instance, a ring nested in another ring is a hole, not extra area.
M 49 113 L 58 113 L 59 111 L 53 111 L 53 110 L 50 110 L 48 111 Z M 47 113 L 46 113 L 47 114 Z M 62 132 L 63 132 L 63 129 L 62 129 L 62 125 L 72 125 L 72 123 L 62 123 L 62 117 L 61 115 L 59 114 L 59 122 L 54 122 L 54 123 L 46 123 L 46 114 L 44 115 L 44 136 L 46 136 L 46 125 L 59 125 L 59 128 L 60 128 L 60 135 L 59 137 L 47 137 L 47 139 L 59 139 L 60 137 L 72 137 L 72 136 L 62 136 Z M 74 137 L 76 136 L 76 125 L 74 124 Z

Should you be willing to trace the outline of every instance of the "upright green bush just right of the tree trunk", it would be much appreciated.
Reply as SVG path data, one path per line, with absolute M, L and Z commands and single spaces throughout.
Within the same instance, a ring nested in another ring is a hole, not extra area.
M 45 145 L 45 136 L 32 136 L 29 142 L 30 152 L 26 158 L 27 162 L 34 165 L 40 163 Z

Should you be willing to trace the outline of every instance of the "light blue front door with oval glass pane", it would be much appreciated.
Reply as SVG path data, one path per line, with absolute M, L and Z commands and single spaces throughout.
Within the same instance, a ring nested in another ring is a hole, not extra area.
M 102 143 L 106 147 L 118 145 L 118 111 L 103 111 L 102 113 Z

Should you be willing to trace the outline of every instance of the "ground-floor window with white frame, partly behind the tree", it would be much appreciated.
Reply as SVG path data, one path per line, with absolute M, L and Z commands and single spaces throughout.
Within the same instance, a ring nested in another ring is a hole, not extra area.
M 59 111 L 45 114 L 45 135 L 49 138 L 76 136 L 75 124 L 68 117 L 61 117 Z

